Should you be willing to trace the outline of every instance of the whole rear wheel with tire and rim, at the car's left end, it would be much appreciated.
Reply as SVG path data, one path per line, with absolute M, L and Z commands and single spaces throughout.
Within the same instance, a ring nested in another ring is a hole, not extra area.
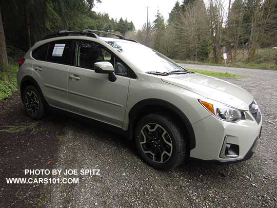
M 26 114 L 34 120 L 45 117 L 45 106 L 36 87 L 30 85 L 23 92 L 23 104 Z

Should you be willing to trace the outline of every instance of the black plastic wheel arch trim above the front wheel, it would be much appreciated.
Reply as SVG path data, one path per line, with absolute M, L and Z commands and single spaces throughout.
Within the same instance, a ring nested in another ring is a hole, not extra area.
M 140 113 L 140 110 L 142 110 L 147 106 L 162 107 L 162 108 L 168 109 L 170 112 L 173 112 L 176 116 L 178 116 L 181 119 L 181 121 L 185 124 L 185 127 L 187 129 L 187 133 L 189 136 L 189 149 L 191 150 L 195 147 L 194 130 L 187 116 L 178 107 L 162 99 L 145 99 L 136 103 L 131 108 L 131 110 L 129 111 L 129 126 L 128 126 L 129 138 L 133 138 L 135 123 L 138 120 L 137 115 Z

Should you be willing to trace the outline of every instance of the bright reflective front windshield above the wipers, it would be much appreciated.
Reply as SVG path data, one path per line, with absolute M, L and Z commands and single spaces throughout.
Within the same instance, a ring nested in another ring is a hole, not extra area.
M 120 41 L 110 41 L 107 43 L 117 51 L 121 52 L 134 65 L 144 72 L 170 73 L 175 71 L 187 71 L 163 54 L 144 45 Z

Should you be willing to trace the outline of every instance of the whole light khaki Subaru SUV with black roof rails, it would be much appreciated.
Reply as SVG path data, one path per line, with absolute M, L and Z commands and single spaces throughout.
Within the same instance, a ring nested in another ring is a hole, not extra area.
M 19 61 L 17 82 L 31 118 L 58 108 L 100 121 L 134 140 L 158 169 L 187 158 L 247 160 L 261 132 L 261 112 L 246 90 L 108 32 L 45 37 Z

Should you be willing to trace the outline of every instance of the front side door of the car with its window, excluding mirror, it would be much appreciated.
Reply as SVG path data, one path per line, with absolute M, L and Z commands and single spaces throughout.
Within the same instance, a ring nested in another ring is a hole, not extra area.
M 121 65 L 117 80 L 94 72 L 94 63 L 115 65 L 114 54 L 91 41 L 76 41 L 75 63 L 68 74 L 68 98 L 71 111 L 116 126 L 122 126 L 130 78 Z M 118 62 L 118 60 L 117 60 Z M 126 66 L 127 67 L 127 66 Z M 127 70 L 127 68 L 125 68 Z

